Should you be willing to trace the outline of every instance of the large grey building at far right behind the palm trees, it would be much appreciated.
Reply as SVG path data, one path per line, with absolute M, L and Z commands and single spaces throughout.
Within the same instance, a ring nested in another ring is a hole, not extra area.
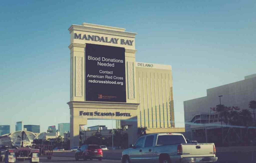
M 256 101 L 256 74 L 248 75 L 238 82 L 207 89 L 206 92 L 205 97 L 184 101 L 186 132 L 197 128 L 220 128 L 216 111 L 216 105 L 220 102 L 228 111 L 247 109 L 253 113 L 248 105 L 250 101 Z

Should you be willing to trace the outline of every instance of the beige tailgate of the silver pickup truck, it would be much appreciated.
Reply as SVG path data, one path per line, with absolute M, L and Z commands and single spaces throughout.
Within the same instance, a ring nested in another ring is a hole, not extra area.
M 182 144 L 182 155 L 209 155 L 213 153 L 213 144 Z

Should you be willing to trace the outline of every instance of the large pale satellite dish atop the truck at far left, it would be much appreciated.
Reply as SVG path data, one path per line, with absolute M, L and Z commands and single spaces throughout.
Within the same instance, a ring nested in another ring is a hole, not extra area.
M 0 145 L 8 147 L 26 147 L 32 146 L 33 139 L 36 135 L 30 131 L 16 131 L 14 133 L 0 136 Z

